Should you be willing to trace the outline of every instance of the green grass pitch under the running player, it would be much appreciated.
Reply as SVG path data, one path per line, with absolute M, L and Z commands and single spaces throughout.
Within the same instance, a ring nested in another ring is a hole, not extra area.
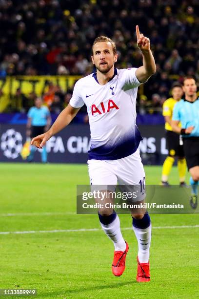
M 159 184 L 160 167 L 145 172 L 148 184 Z M 113 244 L 98 217 L 75 214 L 76 185 L 88 183 L 86 165 L 0 164 L 0 232 L 35 231 L 0 234 L 0 289 L 37 289 L 37 298 L 199 298 L 199 228 L 156 228 L 199 225 L 199 214 L 151 215 L 148 283 L 136 282 L 137 240 L 123 230 L 129 252 L 116 278 Z M 176 167 L 170 183 L 178 184 Z M 120 215 L 120 222 L 132 225 L 130 215 Z M 37 232 L 70 229 L 77 231 Z

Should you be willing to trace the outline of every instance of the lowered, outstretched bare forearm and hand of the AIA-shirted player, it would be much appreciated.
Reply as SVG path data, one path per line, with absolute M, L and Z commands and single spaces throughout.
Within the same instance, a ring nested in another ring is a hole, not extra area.
M 31 141 L 31 145 L 35 145 L 37 148 L 42 149 L 42 146 L 46 144 L 46 141 L 48 141 L 53 135 L 60 132 L 60 130 L 70 124 L 79 110 L 80 108 L 74 108 L 70 104 L 68 104 L 68 106 L 63 109 L 63 111 L 61 111 L 52 127 L 46 133 L 33 138 Z

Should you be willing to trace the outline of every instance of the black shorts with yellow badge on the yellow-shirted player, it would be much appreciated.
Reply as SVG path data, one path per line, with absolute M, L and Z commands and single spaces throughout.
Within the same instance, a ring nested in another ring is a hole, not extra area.
M 167 148 L 171 157 L 184 157 L 183 145 L 179 144 L 179 138 L 179 134 L 166 130 Z

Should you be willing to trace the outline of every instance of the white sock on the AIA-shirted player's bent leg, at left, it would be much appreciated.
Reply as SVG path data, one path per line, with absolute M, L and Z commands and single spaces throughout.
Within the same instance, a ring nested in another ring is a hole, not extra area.
M 118 215 L 110 224 L 102 224 L 101 222 L 100 224 L 104 233 L 113 241 L 115 251 L 124 251 L 126 249 L 126 243 L 121 235 Z

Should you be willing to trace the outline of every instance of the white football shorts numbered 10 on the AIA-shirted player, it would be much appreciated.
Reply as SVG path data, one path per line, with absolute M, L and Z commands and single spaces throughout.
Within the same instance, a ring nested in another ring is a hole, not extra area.
M 93 190 L 115 191 L 118 183 L 125 185 L 123 191 L 132 191 L 132 186 L 139 187 L 137 200 L 145 198 L 145 172 L 139 149 L 130 156 L 117 160 L 88 160 L 88 172 L 90 183 L 95 186 Z

